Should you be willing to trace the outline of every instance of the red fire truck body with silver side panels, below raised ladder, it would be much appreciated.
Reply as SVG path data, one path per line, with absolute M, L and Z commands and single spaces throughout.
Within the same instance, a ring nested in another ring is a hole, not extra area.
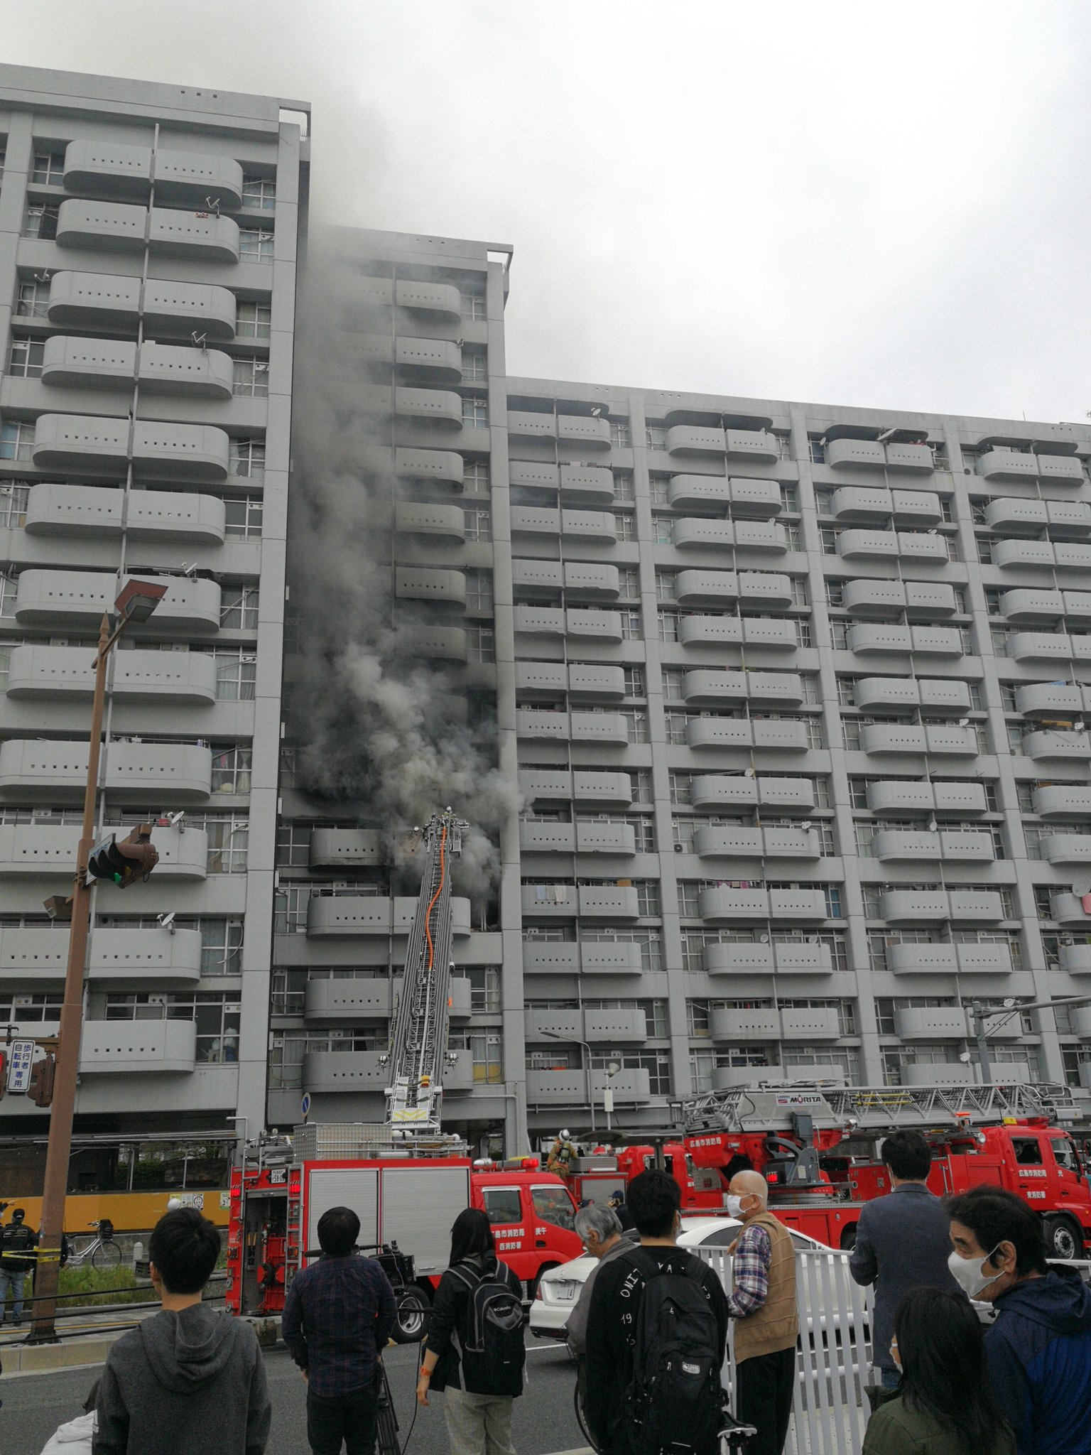
M 348 1206 L 361 1247 L 378 1250 L 399 1293 L 406 1331 L 419 1323 L 447 1267 L 451 1224 L 481 1208 L 496 1251 L 534 1296 L 544 1269 L 582 1251 L 575 1205 L 560 1177 L 537 1158 L 471 1165 L 465 1157 L 413 1155 L 385 1144 L 381 1128 L 337 1123 L 297 1128 L 292 1142 L 265 1139 L 231 1173 L 227 1307 L 269 1315 L 284 1307 L 291 1275 L 319 1253 L 319 1218 Z

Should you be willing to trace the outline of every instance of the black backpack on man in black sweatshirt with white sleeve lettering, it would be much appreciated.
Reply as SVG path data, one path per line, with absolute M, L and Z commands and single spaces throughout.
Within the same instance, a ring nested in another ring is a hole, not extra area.
M 624 1253 L 644 1277 L 633 1336 L 626 1430 L 636 1455 L 714 1451 L 723 1424 L 720 1331 L 704 1296 L 704 1264 L 660 1270 L 646 1248 Z

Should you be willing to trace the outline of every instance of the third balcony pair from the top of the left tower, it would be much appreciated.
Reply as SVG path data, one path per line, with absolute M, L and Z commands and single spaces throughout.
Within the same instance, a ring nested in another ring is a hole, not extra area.
M 148 278 L 143 303 L 144 322 L 157 335 L 204 333 L 214 343 L 234 338 L 236 298 L 230 288 Z M 61 271 L 49 279 L 47 317 L 54 327 L 131 329 L 140 314 L 137 276 Z

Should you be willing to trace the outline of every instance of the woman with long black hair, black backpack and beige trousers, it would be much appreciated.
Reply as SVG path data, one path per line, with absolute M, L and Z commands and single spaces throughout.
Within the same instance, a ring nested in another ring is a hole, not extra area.
M 451 1228 L 451 1260 L 439 1280 L 416 1385 L 419 1404 L 444 1391 L 451 1455 L 515 1455 L 512 1400 L 522 1394 L 522 1289 L 496 1257 L 479 1208 Z

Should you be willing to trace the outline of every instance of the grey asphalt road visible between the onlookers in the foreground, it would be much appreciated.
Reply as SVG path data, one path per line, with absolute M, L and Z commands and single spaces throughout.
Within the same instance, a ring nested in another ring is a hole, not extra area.
M 410 1455 L 447 1455 L 449 1445 L 444 1427 L 442 1394 L 433 1395 L 431 1406 L 417 1411 L 417 1420 L 412 1433 L 409 1432 L 416 1408 L 416 1346 L 388 1349 L 385 1365 L 403 1451 L 407 1448 Z M 273 1406 L 272 1438 L 266 1455 L 305 1455 L 307 1387 L 284 1349 L 266 1353 L 265 1368 Z M 553 1451 L 586 1446 L 573 1414 L 575 1368 L 567 1353 L 528 1334 L 527 1369 L 528 1384 L 522 1398 L 515 1401 L 512 1429 L 518 1455 L 550 1455 Z M 83 1401 L 97 1374 L 97 1369 L 63 1369 L 0 1378 L 3 1455 L 41 1455 L 57 1426 L 83 1411 Z

